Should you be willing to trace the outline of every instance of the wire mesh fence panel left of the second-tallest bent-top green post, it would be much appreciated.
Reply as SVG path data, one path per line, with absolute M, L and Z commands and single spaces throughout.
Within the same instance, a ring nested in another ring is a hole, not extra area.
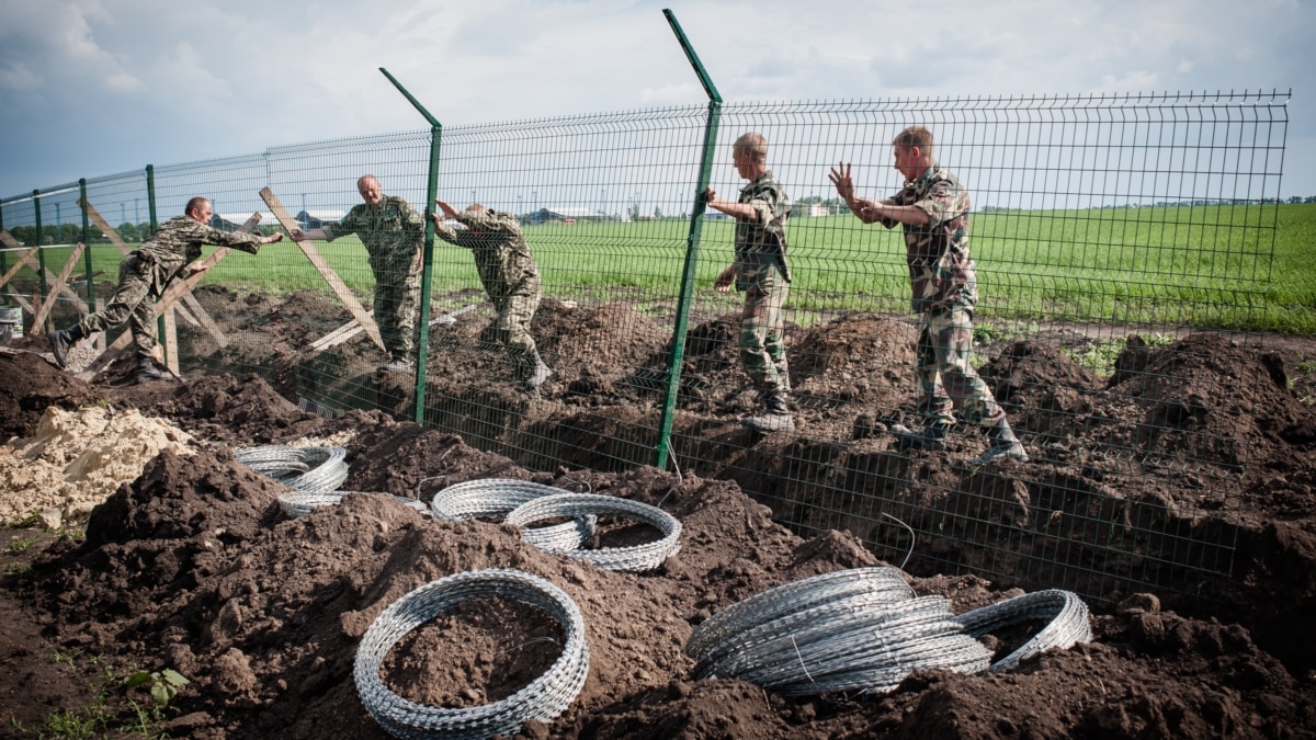
M 212 225 L 225 230 L 254 215 L 261 216 L 261 233 L 287 234 L 280 216 L 307 232 L 326 225 L 332 230 L 363 203 L 357 183 L 365 175 L 372 175 L 384 195 L 401 198 L 422 213 L 428 159 L 429 132 L 334 140 L 158 167 L 155 191 L 162 213 L 170 216 L 182 215 L 193 196 L 209 198 Z M 384 205 L 396 209 L 392 200 Z M 408 234 L 415 254 L 420 238 L 415 229 Z M 265 245 L 257 255 L 234 250 L 215 266 L 195 292 L 216 313 L 221 334 L 183 332 L 184 357 L 193 366 L 258 373 L 308 408 L 401 412 L 393 407 L 405 406 L 399 400 L 405 394 L 382 396 L 376 383 L 376 369 L 388 356 L 359 329 L 349 305 L 354 302 L 379 323 L 372 312 L 375 296 L 400 292 L 409 273 L 393 270 L 380 255 L 374 229 L 330 233 L 332 241 L 315 236 L 301 245 L 288 238 Z M 340 341 L 321 342 L 330 334 Z

